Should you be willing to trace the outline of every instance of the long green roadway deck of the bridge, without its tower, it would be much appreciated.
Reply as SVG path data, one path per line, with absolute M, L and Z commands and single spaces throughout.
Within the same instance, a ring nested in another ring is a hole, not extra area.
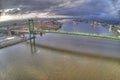
M 18 33 L 30 33 L 29 30 L 13 30 Z M 66 35 L 76 35 L 76 36 L 86 36 L 86 37 L 93 37 L 93 38 L 104 38 L 110 40 L 119 40 L 120 36 L 107 36 L 107 35 L 100 35 L 100 34 L 90 34 L 90 33 L 81 33 L 81 32 L 68 32 L 68 31 L 56 31 L 56 30 L 31 30 L 31 34 L 34 33 L 53 33 L 53 34 L 66 34 Z

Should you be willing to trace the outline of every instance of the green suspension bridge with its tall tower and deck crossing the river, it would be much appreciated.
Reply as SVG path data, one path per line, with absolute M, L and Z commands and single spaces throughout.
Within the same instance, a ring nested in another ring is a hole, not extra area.
M 119 40 L 120 36 L 107 36 L 107 35 L 100 35 L 100 34 L 90 34 L 90 33 L 82 33 L 82 32 L 68 32 L 68 31 L 59 31 L 59 30 L 35 30 L 34 28 L 34 20 L 29 19 L 29 33 L 30 38 L 34 37 L 37 33 L 53 33 L 53 34 L 66 34 L 66 35 L 76 35 L 76 36 L 86 36 L 86 37 L 93 37 L 93 38 L 104 38 L 104 39 L 110 39 L 110 40 Z

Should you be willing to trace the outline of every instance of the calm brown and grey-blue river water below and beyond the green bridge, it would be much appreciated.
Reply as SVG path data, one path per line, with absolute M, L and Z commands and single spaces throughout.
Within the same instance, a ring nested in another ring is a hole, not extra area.
M 70 24 L 61 29 L 66 30 Z M 103 29 L 98 29 L 99 33 Z M 45 34 L 36 35 L 35 44 L 30 46 L 28 41 L 0 50 L 0 80 L 120 79 L 120 41 Z

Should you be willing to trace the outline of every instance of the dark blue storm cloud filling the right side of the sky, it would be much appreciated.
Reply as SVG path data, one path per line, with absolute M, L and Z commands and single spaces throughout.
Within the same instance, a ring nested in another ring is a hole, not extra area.
M 82 4 L 80 1 L 78 3 L 75 7 L 65 8 L 55 12 L 64 15 L 108 15 L 112 13 L 112 10 L 115 10 L 113 9 L 113 3 L 107 0 L 88 0 Z

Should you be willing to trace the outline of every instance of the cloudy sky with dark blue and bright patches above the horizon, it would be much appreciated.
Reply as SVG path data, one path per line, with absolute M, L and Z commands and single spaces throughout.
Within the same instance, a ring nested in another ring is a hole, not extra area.
M 27 16 L 110 16 L 116 17 L 120 0 L 0 0 L 1 19 Z

